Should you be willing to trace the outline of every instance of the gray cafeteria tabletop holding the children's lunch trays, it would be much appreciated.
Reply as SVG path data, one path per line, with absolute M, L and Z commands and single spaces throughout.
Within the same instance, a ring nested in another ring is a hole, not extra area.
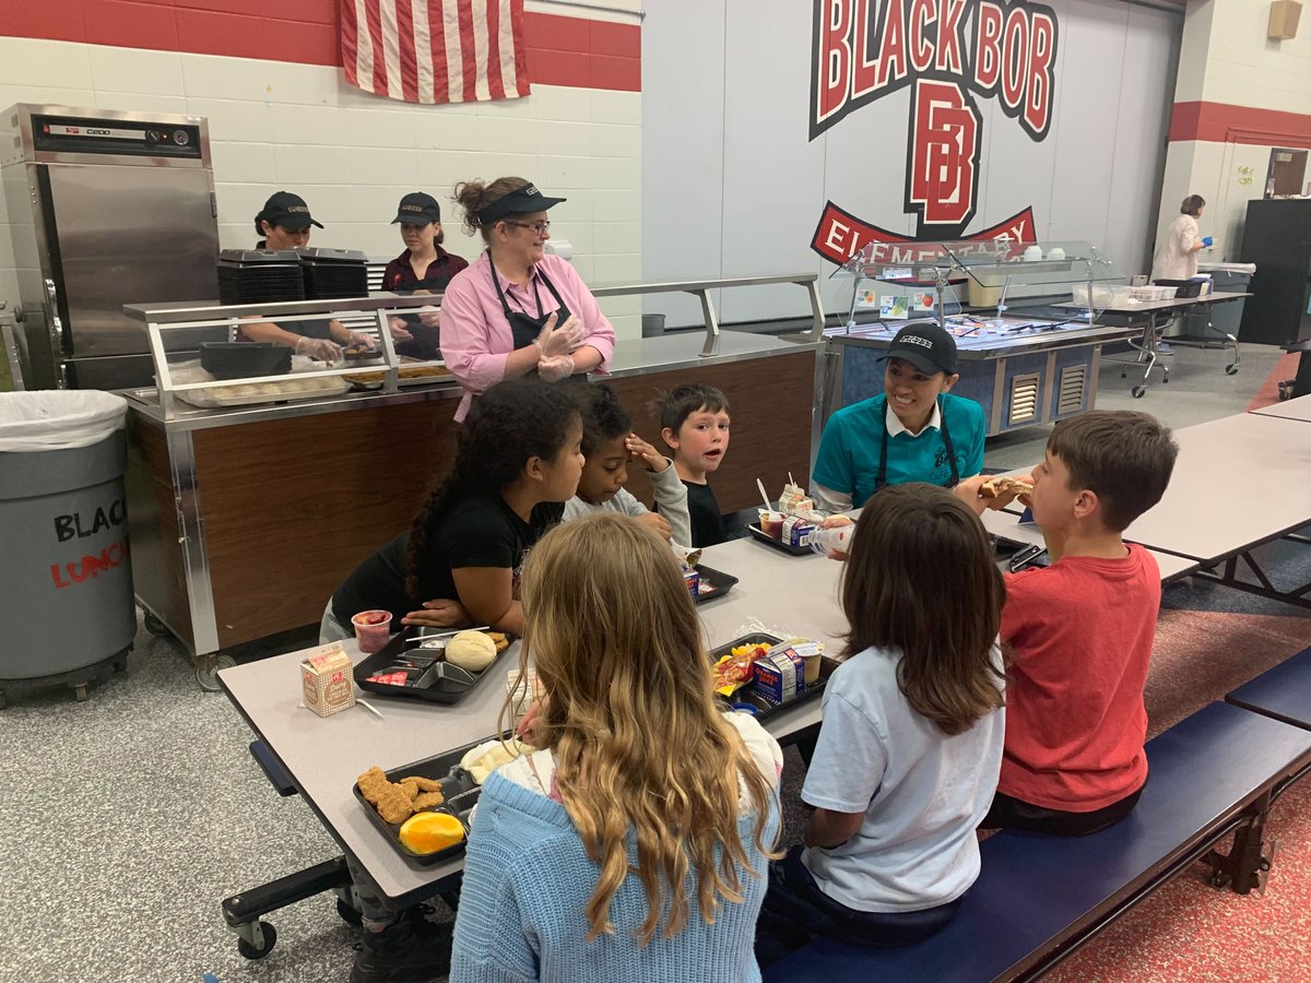
M 738 578 L 721 599 L 699 608 L 708 645 L 722 645 L 766 628 L 804 634 L 840 647 L 844 620 L 838 607 L 842 566 L 817 554 L 793 557 L 751 540 L 704 550 L 703 561 Z M 354 640 L 343 642 L 351 659 L 362 657 Z M 342 851 L 359 860 L 375 887 L 391 902 L 409 906 L 443 890 L 461 860 L 418 866 L 400 856 L 378 832 L 351 793 L 370 765 L 384 771 L 481 741 L 498 726 L 505 679 L 518 667 L 519 644 L 488 670 L 488 678 L 459 704 L 440 705 L 366 695 L 382 718 L 363 706 L 317 717 L 300 704 L 304 651 L 220 670 L 219 682 L 250 729 L 273 752 L 292 785 Z M 785 708 L 763 721 L 780 742 L 819 723 L 819 701 Z

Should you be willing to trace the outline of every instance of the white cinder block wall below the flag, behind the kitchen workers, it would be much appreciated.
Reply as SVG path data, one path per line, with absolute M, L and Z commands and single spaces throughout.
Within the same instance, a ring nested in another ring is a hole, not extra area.
M 389 258 L 402 249 L 396 203 L 421 189 L 442 202 L 446 248 L 472 260 L 481 240 L 460 229 L 452 186 L 520 174 L 569 199 L 552 236 L 572 242 L 583 280 L 641 277 L 640 92 L 535 84 L 522 100 L 418 106 L 361 92 L 332 66 L 0 37 L 0 109 L 16 102 L 206 117 L 223 248 L 253 246 L 254 214 L 287 189 L 326 227 L 315 245 Z M 0 299 L 14 303 L 4 207 Z M 641 333 L 640 299 L 602 307 L 621 337 Z

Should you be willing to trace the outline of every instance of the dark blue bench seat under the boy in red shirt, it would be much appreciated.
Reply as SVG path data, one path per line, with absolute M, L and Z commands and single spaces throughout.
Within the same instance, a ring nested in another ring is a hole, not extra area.
M 1269 789 L 1311 763 L 1311 731 L 1214 703 L 1147 744 L 1151 777 L 1124 822 L 1082 838 L 1006 831 L 960 915 L 918 945 L 863 949 L 817 938 L 767 983 L 1036 975 L 1256 818 Z

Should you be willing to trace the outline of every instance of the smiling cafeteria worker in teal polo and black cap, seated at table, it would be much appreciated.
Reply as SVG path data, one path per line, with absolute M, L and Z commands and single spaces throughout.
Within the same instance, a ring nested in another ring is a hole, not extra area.
M 884 392 L 843 406 L 825 425 L 812 474 L 815 505 L 850 511 L 886 485 L 954 488 L 983 471 L 983 408 L 952 396 L 956 339 L 936 324 L 897 332 Z

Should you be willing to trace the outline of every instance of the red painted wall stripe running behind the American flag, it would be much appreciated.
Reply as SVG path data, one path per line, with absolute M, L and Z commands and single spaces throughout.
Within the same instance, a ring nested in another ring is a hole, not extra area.
M 265 0 L 0 0 L 0 37 L 341 64 L 337 0 L 282 0 L 271 8 Z M 261 13 L 267 10 L 277 16 Z M 528 12 L 523 33 L 534 83 L 641 92 L 637 25 Z

